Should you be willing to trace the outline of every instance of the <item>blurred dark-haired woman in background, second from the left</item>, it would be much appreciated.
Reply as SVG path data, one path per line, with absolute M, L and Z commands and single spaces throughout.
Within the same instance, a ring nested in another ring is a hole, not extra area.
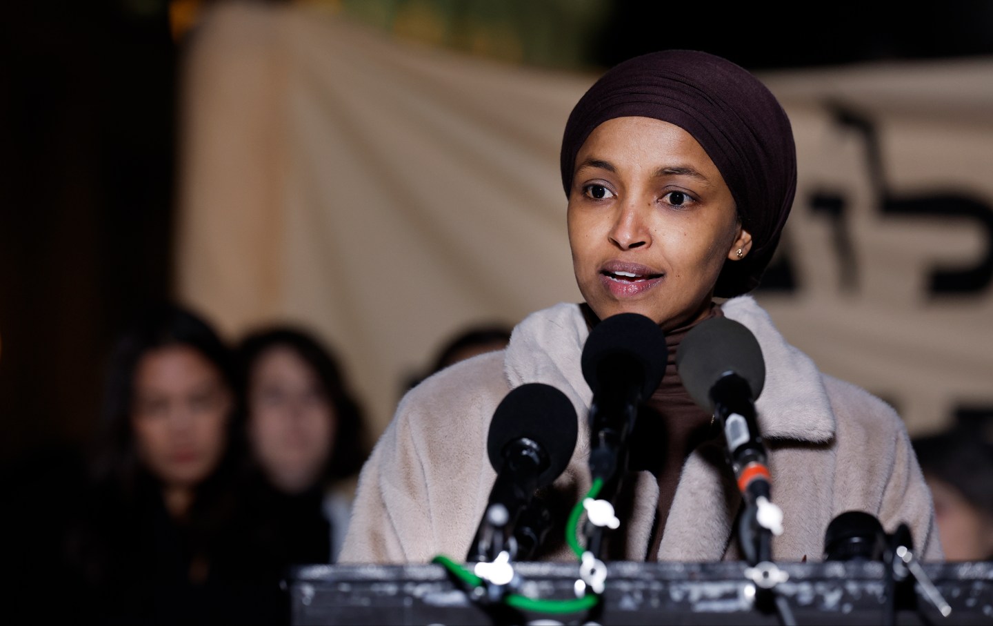
M 283 567 L 334 562 L 368 454 L 339 359 L 309 331 L 270 326 L 242 339 L 237 363 L 253 541 Z

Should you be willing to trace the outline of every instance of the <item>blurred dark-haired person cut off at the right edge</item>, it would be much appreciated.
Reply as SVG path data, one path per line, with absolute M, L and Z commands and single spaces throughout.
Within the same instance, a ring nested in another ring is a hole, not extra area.
M 957 425 L 913 440 L 946 560 L 993 560 L 993 442 Z

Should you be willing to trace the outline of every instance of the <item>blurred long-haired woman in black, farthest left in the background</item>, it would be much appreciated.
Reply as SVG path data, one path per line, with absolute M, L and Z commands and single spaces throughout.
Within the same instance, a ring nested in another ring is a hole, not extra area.
M 229 348 L 175 304 L 111 356 L 94 475 L 68 556 L 97 623 L 247 623 L 282 615 L 278 586 L 232 530 L 240 423 Z

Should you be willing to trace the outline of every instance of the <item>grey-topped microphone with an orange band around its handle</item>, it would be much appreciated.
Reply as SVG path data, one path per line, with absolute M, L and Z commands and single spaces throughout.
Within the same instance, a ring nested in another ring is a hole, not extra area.
M 724 431 L 742 495 L 752 504 L 760 496 L 768 500 L 771 475 L 755 416 L 755 400 L 766 383 L 766 362 L 755 335 L 726 317 L 704 320 L 679 344 L 676 369 L 693 401 L 712 413 Z

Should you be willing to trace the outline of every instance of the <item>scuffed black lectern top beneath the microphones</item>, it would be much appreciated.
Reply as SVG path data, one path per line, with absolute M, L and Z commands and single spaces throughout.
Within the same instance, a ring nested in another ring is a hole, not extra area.
M 899 598 L 894 611 L 879 561 L 777 564 L 788 574 L 778 593 L 798 625 L 993 625 L 993 561 L 922 565 L 951 607 L 947 618 L 920 589 Z M 747 568 L 745 562 L 609 562 L 600 604 L 557 615 L 488 608 L 440 564 L 309 565 L 291 570 L 287 583 L 294 625 L 779 624 L 775 612 L 757 605 Z M 576 597 L 578 563 L 518 562 L 514 569 L 519 593 Z

